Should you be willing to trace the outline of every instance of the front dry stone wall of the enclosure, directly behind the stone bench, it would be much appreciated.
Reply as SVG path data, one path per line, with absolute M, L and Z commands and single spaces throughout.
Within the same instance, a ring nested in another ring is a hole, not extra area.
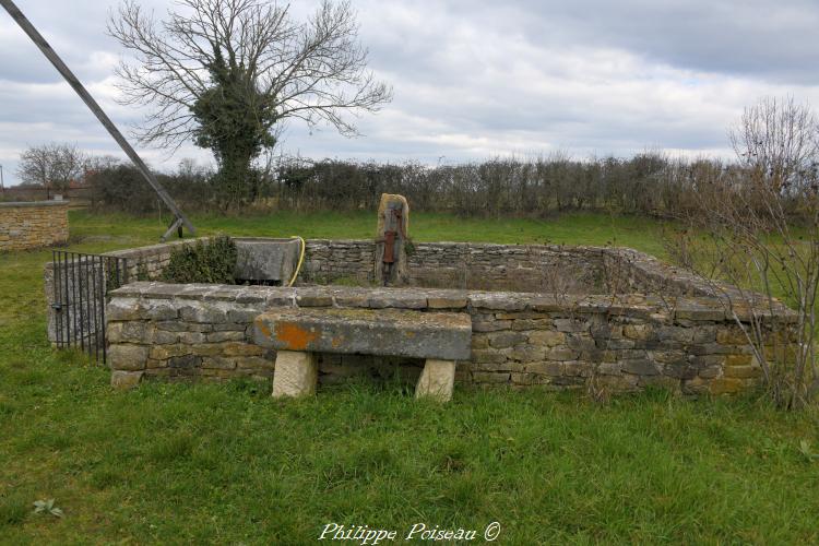
M 713 298 L 556 297 L 460 289 L 214 286 L 134 283 L 107 307 L 112 383 L 143 378 L 270 378 L 275 352 L 252 321 L 281 307 L 468 313 L 472 355 L 456 381 L 513 388 L 736 392 L 760 377 L 751 347 Z M 419 361 L 320 355 L 320 381 L 370 370 L 417 377 Z

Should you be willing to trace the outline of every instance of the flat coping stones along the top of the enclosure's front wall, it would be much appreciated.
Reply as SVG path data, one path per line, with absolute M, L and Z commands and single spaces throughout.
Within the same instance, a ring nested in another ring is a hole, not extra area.
M 135 282 L 111 292 L 114 297 L 188 299 L 264 304 L 266 307 L 342 307 L 368 309 L 475 310 L 487 313 L 567 312 L 622 314 L 657 321 L 733 322 L 724 300 L 685 296 L 661 298 L 644 294 L 565 295 L 482 292 L 446 288 L 366 288 L 354 286 L 233 286 Z M 748 309 L 734 311 L 750 320 Z M 770 316 L 770 313 L 769 313 Z M 776 317 L 792 322 L 796 313 L 782 306 Z

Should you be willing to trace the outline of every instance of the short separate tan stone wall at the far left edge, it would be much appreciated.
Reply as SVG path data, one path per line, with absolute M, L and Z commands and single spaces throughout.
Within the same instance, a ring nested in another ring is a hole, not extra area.
M 0 252 L 68 242 L 68 201 L 0 203 Z

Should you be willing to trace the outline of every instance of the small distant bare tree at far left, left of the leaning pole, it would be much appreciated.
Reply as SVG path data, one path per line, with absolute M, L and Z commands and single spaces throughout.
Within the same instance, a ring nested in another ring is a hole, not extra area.
M 71 144 L 31 146 L 20 154 L 17 176 L 23 183 L 66 191 L 83 175 L 85 157 Z

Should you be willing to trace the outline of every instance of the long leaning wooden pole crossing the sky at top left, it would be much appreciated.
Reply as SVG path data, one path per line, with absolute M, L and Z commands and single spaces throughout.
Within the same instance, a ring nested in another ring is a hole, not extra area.
M 23 32 L 26 33 L 28 37 L 32 38 L 32 41 L 34 41 L 34 44 L 39 48 L 39 50 L 43 51 L 43 55 L 46 56 L 46 59 L 48 59 L 51 64 L 54 64 L 54 67 L 60 74 L 62 74 L 62 78 L 66 79 L 69 85 L 74 88 L 76 94 L 80 95 L 80 98 L 83 99 L 83 103 L 85 103 L 88 109 L 94 112 L 94 116 L 97 117 L 99 122 L 103 123 L 103 127 L 105 127 L 111 134 L 111 136 L 114 136 L 114 140 L 117 141 L 119 147 L 121 147 L 126 155 L 128 155 L 133 164 L 136 165 L 136 168 L 140 169 L 140 173 L 142 173 L 142 176 L 145 177 L 145 180 L 147 180 L 147 183 L 151 185 L 156 194 L 159 195 L 159 199 L 162 199 L 163 202 L 168 206 L 170 212 L 174 213 L 176 219 L 170 225 L 165 235 L 163 235 L 162 239 L 165 240 L 174 232 L 174 229 L 179 229 L 179 235 L 181 236 L 181 226 L 187 227 L 191 235 L 195 235 L 197 229 L 193 227 L 193 224 L 191 224 L 188 218 L 185 217 L 182 211 L 179 210 L 176 202 L 174 202 L 174 199 L 168 194 L 167 191 L 165 191 L 165 188 L 162 187 L 158 180 L 156 180 L 156 177 L 153 173 L 151 173 L 151 169 L 147 168 L 147 165 L 145 165 L 145 162 L 142 161 L 142 157 L 140 157 L 136 151 L 131 147 L 126 138 L 122 136 L 122 133 L 119 132 L 119 129 L 117 129 L 110 118 L 103 111 L 97 102 L 94 100 L 94 97 L 92 97 L 91 94 L 85 90 L 83 84 L 80 83 L 80 80 L 76 79 L 74 73 L 71 72 L 71 70 L 66 66 L 64 62 L 62 62 L 62 59 L 60 59 L 57 52 L 48 44 L 48 41 L 46 41 L 46 38 L 44 38 L 43 35 L 37 32 L 34 25 L 26 19 L 25 15 L 23 15 L 23 12 L 20 11 L 20 9 L 14 4 L 14 2 L 12 2 L 12 0 L 0 0 L 0 5 L 2 5 L 5 11 L 9 12 L 9 15 L 11 15 L 12 19 L 17 22 Z

